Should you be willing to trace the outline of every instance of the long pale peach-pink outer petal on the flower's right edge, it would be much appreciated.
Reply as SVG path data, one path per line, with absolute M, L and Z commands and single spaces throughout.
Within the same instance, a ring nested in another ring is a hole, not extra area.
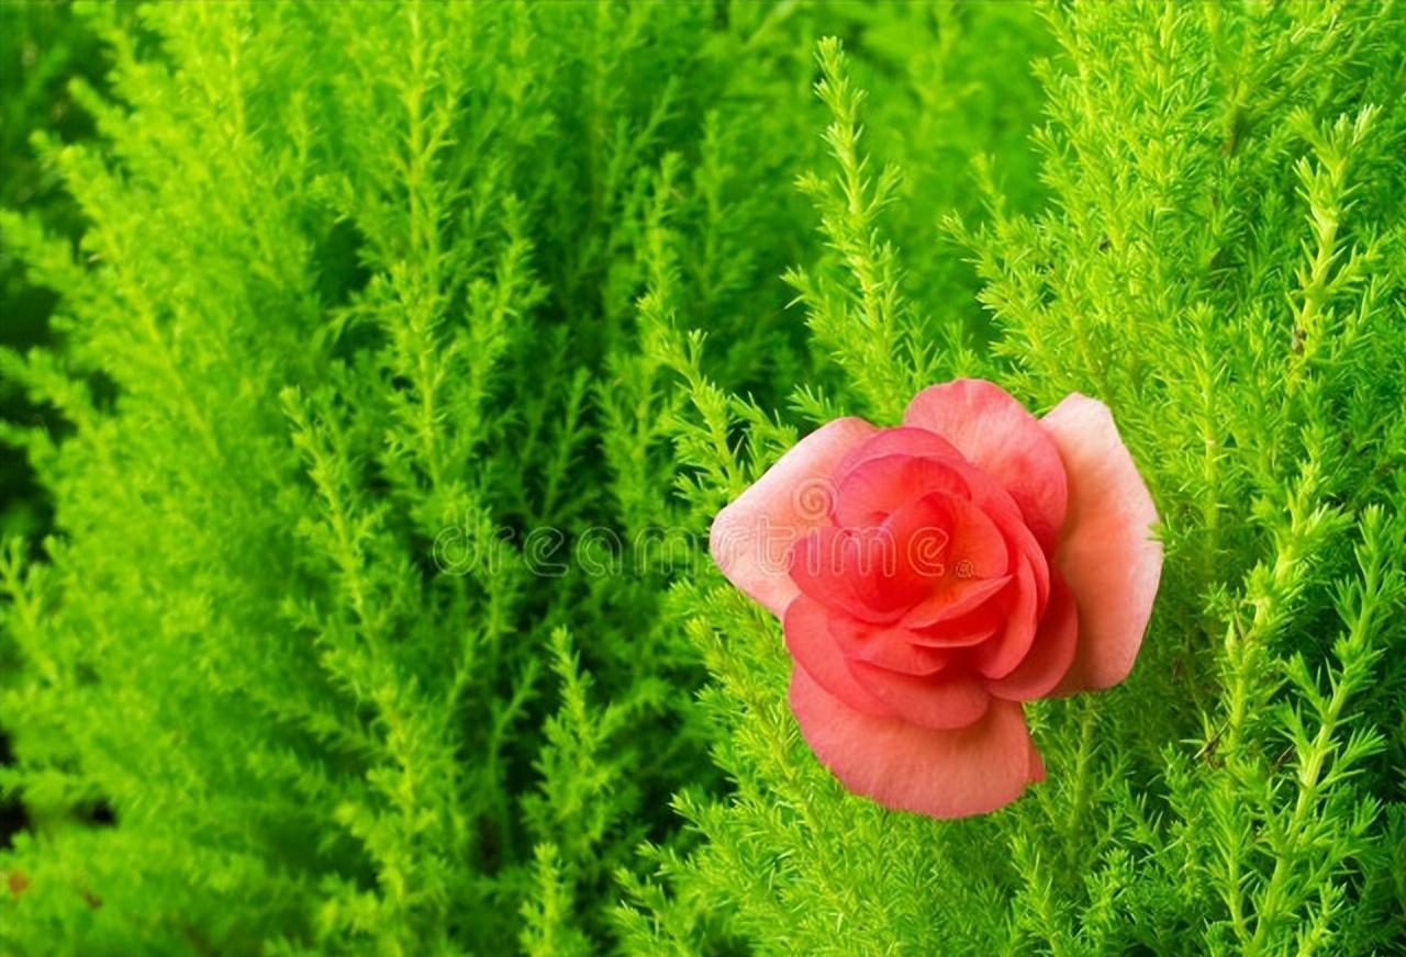
M 1069 475 L 1069 520 L 1053 564 L 1078 604 L 1074 663 L 1056 693 L 1128 677 L 1161 578 L 1157 509 L 1102 402 L 1070 393 L 1042 420 Z

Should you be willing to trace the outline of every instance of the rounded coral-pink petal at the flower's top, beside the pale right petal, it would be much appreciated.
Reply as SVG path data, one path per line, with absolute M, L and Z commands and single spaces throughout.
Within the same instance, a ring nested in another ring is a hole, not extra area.
M 908 403 L 903 424 L 938 433 L 991 472 L 1021 506 L 1040 545 L 1053 547 L 1064 524 L 1064 469 L 1040 420 L 1008 392 L 984 379 L 932 385 Z

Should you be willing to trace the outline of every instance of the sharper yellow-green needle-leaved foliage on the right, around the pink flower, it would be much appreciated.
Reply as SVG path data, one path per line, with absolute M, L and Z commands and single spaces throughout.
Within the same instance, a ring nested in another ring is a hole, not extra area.
M 948 216 L 1000 330 L 976 356 L 959 326 L 914 332 L 879 222 L 891 176 L 856 152 L 858 97 L 821 45 L 838 164 L 821 214 L 845 268 L 803 299 L 848 374 L 835 408 L 893 420 L 908 370 L 976 371 L 1035 408 L 1095 395 L 1153 488 L 1167 573 L 1126 686 L 1031 708 L 1049 780 L 956 823 L 844 794 L 786 712 L 775 623 L 716 575 L 678 590 L 737 793 L 681 801 L 704 843 L 657 852 L 634 887 L 636 953 L 688 953 L 720 909 L 776 954 L 1400 947 L 1400 14 L 1052 11 L 1050 202 L 1019 215 L 997 193 L 986 225 Z M 717 431 L 695 396 L 686 436 Z M 738 468 L 696 437 L 681 451 Z M 647 932 L 647 913 L 672 919 Z

